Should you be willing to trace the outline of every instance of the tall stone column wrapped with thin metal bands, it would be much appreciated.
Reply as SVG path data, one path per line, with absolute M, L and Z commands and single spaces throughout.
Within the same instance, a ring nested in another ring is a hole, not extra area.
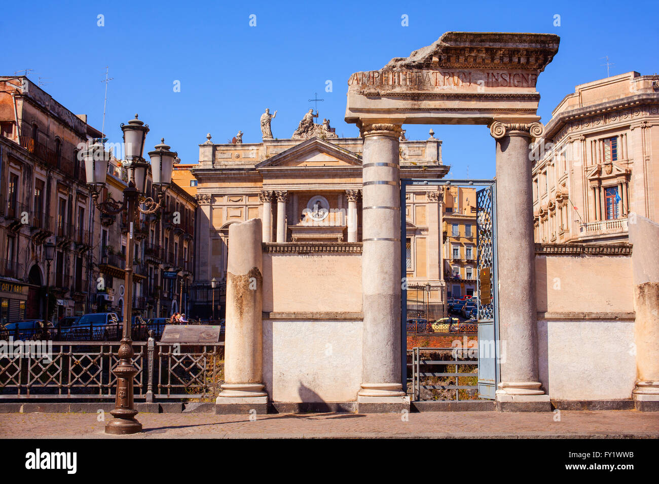
M 409 408 L 401 383 L 401 126 L 364 124 L 359 412 Z

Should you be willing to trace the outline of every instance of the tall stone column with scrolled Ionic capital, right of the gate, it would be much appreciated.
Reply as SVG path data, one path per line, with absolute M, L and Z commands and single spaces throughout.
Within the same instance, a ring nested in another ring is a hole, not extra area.
M 496 209 L 501 382 L 496 399 L 503 410 L 551 410 L 538 378 L 538 335 L 533 240 L 530 138 L 539 122 L 495 121 Z

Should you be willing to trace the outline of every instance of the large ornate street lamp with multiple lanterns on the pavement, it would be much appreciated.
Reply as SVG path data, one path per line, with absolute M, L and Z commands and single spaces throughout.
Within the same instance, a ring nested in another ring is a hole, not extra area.
M 130 339 L 130 326 L 132 323 L 132 227 L 136 223 L 139 213 L 156 213 L 161 206 L 165 191 L 171 184 L 171 170 L 174 158 L 177 153 L 169 151 L 169 146 L 164 143 L 156 146 L 156 151 L 149 153 L 157 157 L 158 175 L 154 173 L 154 186 L 156 187 L 157 201 L 146 196 L 146 180 L 150 171 L 150 164 L 142 157 L 144 151 L 144 140 L 146 133 L 149 132 L 149 126 L 137 119 L 132 119 L 128 124 L 121 124 L 124 139 L 125 161 L 121 164 L 128 171 L 128 186 L 123 190 L 123 200 L 114 200 L 108 196 L 106 200 L 98 201 L 101 190 L 105 187 L 105 178 L 107 176 L 107 163 L 109 153 L 103 149 L 103 145 L 93 143 L 82 153 L 87 170 L 87 186 L 92 194 L 94 205 L 107 215 L 116 215 L 117 213 L 126 213 L 130 234 L 127 238 L 126 246 L 126 269 L 124 282 L 124 299 L 127 304 L 123 308 L 123 335 L 121 345 L 119 346 L 119 364 L 113 370 L 117 376 L 117 398 L 115 400 L 115 409 L 110 412 L 113 418 L 105 425 L 105 433 L 110 434 L 131 434 L 142 431 L 142 424 L 135 419 L 137 410 L 134 409 L 133 402 L 133 378 L 137 369 L 132 365 L 132 340 Z M 164 140 L 161 140 L 164 142 Z M 158 153 L 154 155 L 154 153 Z M 169 178 L 161 174 L 169 173 Z M 156 178 L 157 176 L 157 178 Z M 144 205 L 142 208 L 140 205 Z

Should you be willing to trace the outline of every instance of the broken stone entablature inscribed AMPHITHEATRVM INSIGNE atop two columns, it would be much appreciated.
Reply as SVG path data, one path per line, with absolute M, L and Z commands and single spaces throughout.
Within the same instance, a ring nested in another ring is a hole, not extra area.
M 345 121 L 538 121 L 536 81 L 558 43 L 552 34 L 447 32 L 380 70 L 351 74 Z

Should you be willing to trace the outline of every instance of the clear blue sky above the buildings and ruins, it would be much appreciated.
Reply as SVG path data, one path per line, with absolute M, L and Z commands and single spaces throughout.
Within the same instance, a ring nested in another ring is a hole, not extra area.
M 150 125 L 147 149 L 164 136 L 184 163 L 198 159 L 210 132 L 227 142 L 260 142 L 259 118 L 277 112 L 277 138 L 289 138 L 308 99 L 318 93 L 320 119 L 339 136 L 357 136 L 343 121 L 352 72 L 407 57 L 449 30 L 538 32 L 561 36 L 554 61 L 540 74 L 539 115 L 574 86 L 637 70 L 659 71 L 656 1 L 598 2 L 251 2 L 194 1 L 5 3 L 1 74 L 31 68 L 30 78 L 76 114 L 101 128 L 105 66 L 109 66 L 105 132 L 121 138 L 119 123 L 140 114 Z M 104 26 L 98 26 L 98 15 Z M 249 26 L 250 15 L 256 26 Z M 401 26 L 407 14 L 409 26 Z M 560 26 L 554 16 L 560 15 Z M 332 92 L 326 92 L 331 80 Z M 180 81 L 181 92 L 174 92 Z M 451 178 L 494 176 L 494 140 L 485 126 L 432 126 L 444 140 Z M 430 126 L 406 126 L 425 139 Z M 145 149 L 146 151 L 146 149 Z

